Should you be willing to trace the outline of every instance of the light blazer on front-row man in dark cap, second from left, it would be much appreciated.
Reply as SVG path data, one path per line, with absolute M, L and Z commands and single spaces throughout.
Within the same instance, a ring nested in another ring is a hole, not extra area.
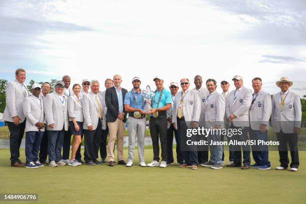
M 43 122 L 44 120 L 44 112 L 43 112 L 43 100 L 41 100 L 41 106 L 37 100 L 37 97 L 31 95 L 24 99 L 22 107 L 23 113 L 26 117 L 25 122 L 25 132 L 27 131 L 38 131 L 38 127 L 35 125 L 37 122 Z M 44 128 L 41 128 L 40 131 L 44 131 Z

